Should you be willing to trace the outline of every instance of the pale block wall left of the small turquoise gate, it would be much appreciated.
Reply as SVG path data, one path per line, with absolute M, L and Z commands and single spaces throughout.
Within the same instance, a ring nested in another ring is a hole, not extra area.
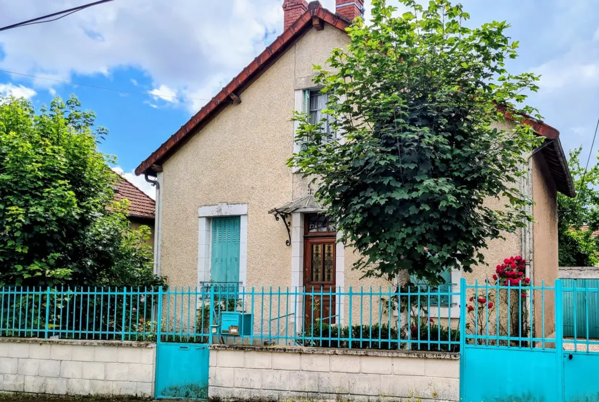
M 155 344 L 0 338 L 0 391 L 152 397 Z

